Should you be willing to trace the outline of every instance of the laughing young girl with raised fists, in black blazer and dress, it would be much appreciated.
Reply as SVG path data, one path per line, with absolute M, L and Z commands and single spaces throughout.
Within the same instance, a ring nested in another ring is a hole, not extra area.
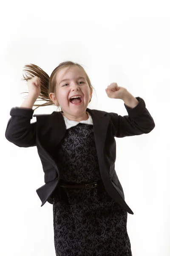
M 112 83 L 105 91 L 124 101 L 128 115 L 91 110 L 93 87 L 79 64 L 63 62 L 50 77 L 36 65 L 25 67 L 28 97 L 11 109 L 6 139 L 37 146 L 45 175 L 37 194 L 42 205 L 53 204 L 56 255 L 131 256 L 127 212 L 133 212 L 115 171 L 115 137 L 153 130 L 144 100 Z M 61 111 L 34 115 L 37 122 L 30 123 L 37 98 Z

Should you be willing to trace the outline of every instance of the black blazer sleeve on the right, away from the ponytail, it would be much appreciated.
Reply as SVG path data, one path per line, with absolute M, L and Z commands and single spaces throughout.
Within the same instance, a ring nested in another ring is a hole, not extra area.
M 135 108 L 129 108 L 124 103 L 128 115 L 120 116 L 117 113 L 108 113 L 111 117 L 112 131 L 115 137 L 147 134 L 155 127 L 144 100 L 140 97 L 136 97 L 136 99 L 139 103 Z

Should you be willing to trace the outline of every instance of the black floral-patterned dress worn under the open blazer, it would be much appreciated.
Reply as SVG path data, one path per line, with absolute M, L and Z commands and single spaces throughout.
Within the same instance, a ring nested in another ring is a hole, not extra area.
M 58 160 L 59 184 L 102 183 L 93 125 L 79 122 L 68 128 L 57 147 Z M 107 194 L 103 183 L 92 189 L 59 184 L 52 195 L 57 256 L 132 256 L 127 211 Z

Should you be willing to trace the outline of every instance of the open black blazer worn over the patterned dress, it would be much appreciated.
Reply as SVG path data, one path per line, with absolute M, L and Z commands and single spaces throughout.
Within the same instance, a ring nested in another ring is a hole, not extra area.
M 117 201 L 130 214 L 132 210 L 125 202 L 125 195 L 115 171 L 116 141 L 115 137 L 147 134 L 153 130 L 155 123 L 147 111 L 142 98 L 135 108 L 125 105 L 128 115 L 91 110 L 94 124 L 94 139 L 96 143 L 99 169 L 108 195 Z M 66 127 L 62 113 L 54 111 L 51 114 L 33 115 L 31 108 L 11 108 L 11 118 L 6 128 L 6 139 L 19 147 L 37 146 L 37 151 L 44 171 L 45 184 L 36 190 L 43 206 L 46 201 L 53 203 L 50 197 L 59 183 L 62 170 L 54 160 L 56 146 L 65 135 Z M 30 123 L 32 116 L 37 122 Z

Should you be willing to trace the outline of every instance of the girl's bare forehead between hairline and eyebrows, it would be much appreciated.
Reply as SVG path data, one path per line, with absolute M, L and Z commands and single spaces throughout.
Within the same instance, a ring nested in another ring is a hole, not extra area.
M 84 76 L 85 73 L 83 70 L 77 66 L 70 67 L 64 67 L 57 73 L 57 83 L 59 83 L 62 79 L 73 79 L 75 76 Z

